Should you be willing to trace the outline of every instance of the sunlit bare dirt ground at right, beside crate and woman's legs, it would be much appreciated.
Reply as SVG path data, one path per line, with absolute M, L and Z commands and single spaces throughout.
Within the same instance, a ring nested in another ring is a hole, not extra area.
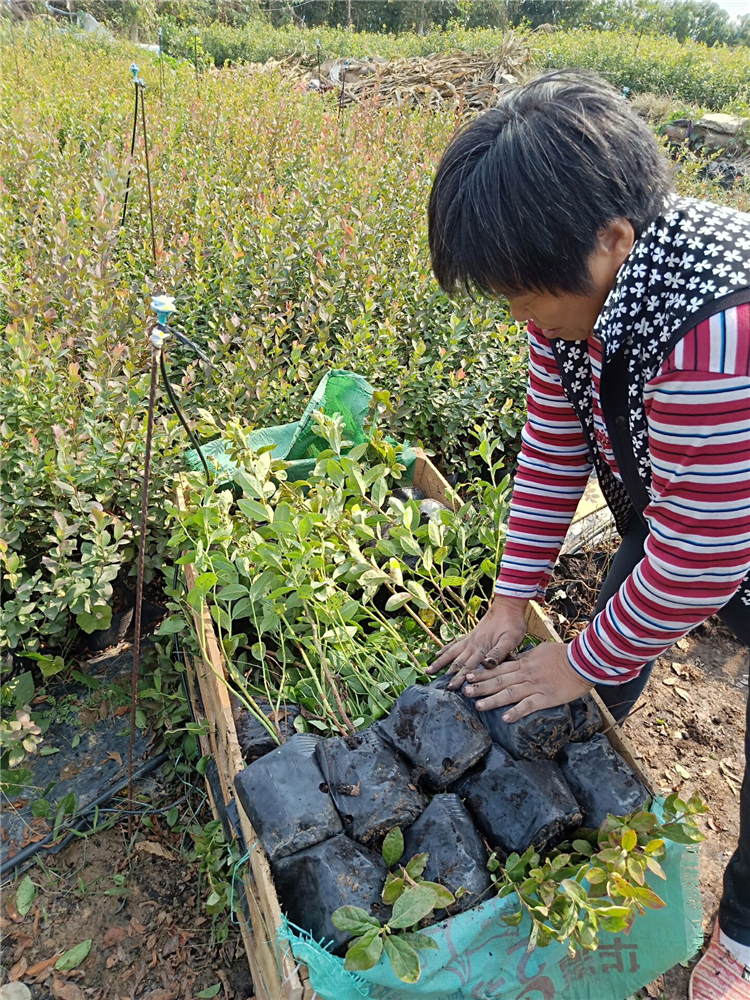
M 606 554 L 563 559 L 548 595 L 560 633 L 572 638 L 586 621 L 606 573 Z M 585 581 L 585 582 L 584 582 Z M 637 755 L 664 792 L 698 791 L 711 812 L 702 818 L 703 926 L 710 935 L 722 875 L 737 845 L 739 790 L 744 772 L 745 711 L 750 651 L 718 619 L 680 640 L 654 668 L 624 726 Z M 643 997 L 685 1000 L 689 968 L 677 966 L 644 990 Z

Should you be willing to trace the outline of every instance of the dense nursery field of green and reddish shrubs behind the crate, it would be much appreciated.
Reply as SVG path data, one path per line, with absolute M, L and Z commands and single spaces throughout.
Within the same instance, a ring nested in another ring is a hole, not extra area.
M 133 569 L 155 292 L 176 297 L 175 324 L 211 359 L 168 342 L 172 385 L 204 438 L 229 420 L 296 419 L 333 366 L 364 375 L 393 435 L 423 444 L 444 472 L 468 478 L 481 464 L 477 425 L 512 461 L 524 419 L 523 331 L 502 303 L 450 300 L 430 272 L 426 200 L 451 112 L 361 106 L 339 119 L 335 101 L 273 72 L 206 68 L 196 80 L 177 59 L 160 99 L 158 63 L 142 49 L 36 24 L 17 26 L 14 38 L 2 80 L 4 657 L 64 652 L 79 628 L 106 625 L 113 582 Z M 322 38 L 328 53 L 367 48 L 364 36 Z M 477 34 L 472 44 L 492 41 Z M 266 42 L 240 54 L 297 44 L 283 32 Z M 469 47 L 458 36 L 401 36 L 398 51 L 438 42 Z M 541 64 L 611 66 L 634 78 L 622 54 L 630 41 L 608 44 L 605 53 L 594 33 L 556 34 Z M 667 58 L 660 44 L 644 38 L 639 49 L 649 89 L 705 106 L 741 100 L 746 48 L 668 40 Z M 156 267 L 140 138 L 120 225 L 134 59 L 148 85 Z M 649 76 L 657 67 L 660 79 Z M 680 177 L 684 190 L 739 197 L 700 180 L 697 164 Z M 157 586 L 187 447 L 160 389 L 147 557 Z

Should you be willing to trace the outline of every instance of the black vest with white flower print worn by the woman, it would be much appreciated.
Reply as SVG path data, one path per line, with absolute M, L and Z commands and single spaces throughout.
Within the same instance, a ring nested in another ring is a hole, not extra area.
M 750 215 L 670 198 L 620 268 L 594 327 L 602 342 L 602 411 L 622 482 L 594 436 L 586 341 L 551 341 L 565 394 L 581 421 L 620 534 L 633 517 L 643 517 L 652 496 L 644 405 L 648 382 L 699 323 L 749 301 Z M 737 596 L 750 604 L 750 575 Z

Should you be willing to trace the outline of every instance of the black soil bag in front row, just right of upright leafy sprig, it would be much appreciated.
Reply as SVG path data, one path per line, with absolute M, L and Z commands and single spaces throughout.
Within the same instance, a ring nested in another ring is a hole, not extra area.
M 451 916 L 488 898 L 487 849 L 458 795 L 436 795 L 404 831 L 404 859 L 425 852 L 430 855 L 423 875 L 428 882 L 439 882 L 454 894 L 462 886 L 466 890 L 449 908 Z

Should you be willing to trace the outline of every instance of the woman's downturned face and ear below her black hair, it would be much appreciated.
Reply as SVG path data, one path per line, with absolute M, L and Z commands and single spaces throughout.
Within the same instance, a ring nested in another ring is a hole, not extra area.
M 526 292 L 508 296 L 510 311 L 519 323 L 531 320 L 545 337 L 585 340 L 635 242 L 627 219 L 615 219 L 602 230 L 596 250 L 589 258 L 591 291 L 586 294 Z

